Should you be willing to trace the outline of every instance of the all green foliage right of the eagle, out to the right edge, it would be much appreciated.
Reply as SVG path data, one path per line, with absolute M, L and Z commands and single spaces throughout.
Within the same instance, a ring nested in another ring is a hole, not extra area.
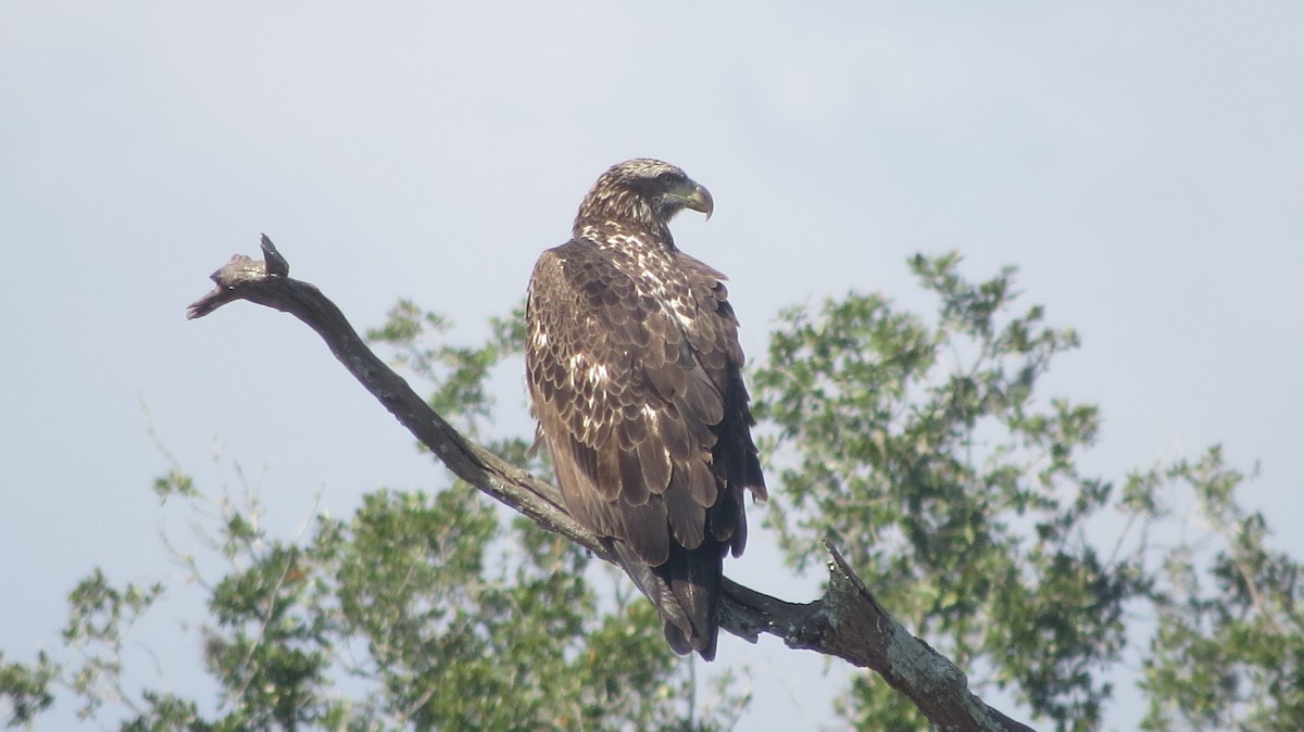
M 771 520 L 790 564 L 808 567 L 835 537 L 979 689 L 1013 692 L 1056 729 L 1101 728 L 1140 641 L 1129 613 L 1159 617 L 1141 684 L 1149 728 L 1304 728 L 1299 564 L 1269 552 L 1264 517 L 1235 503 L 1245 477 L 1218 448 L 1133 475 L 1121 496 L 1084 474 L 1098 409 L 1037 393 L 1076 333 L 1046 326 L 1041 306 L 1011 314 L 1013 270 L 970 283 L 958 262 L 910 262 L 939 301 L 931 320 L 859 293 L 781 315 L 754 383 L 776 429 L 763 453 L 786 499 Z M 1198 500 L 1226 547 L 1210 564 L 1145 541 L 1180 516 L 1159 507 L 1166 495 Z M 1202 572 L 1215 594 L 1201 595 Z M 840 711 L 866 729 L 927 725 L 871 675 Z

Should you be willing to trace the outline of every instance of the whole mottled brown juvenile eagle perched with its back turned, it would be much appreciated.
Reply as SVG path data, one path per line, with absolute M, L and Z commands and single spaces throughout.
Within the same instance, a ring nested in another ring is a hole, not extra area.
M 529 280 L 526 370 L 570 513 L 613 539 L 675 653 L 716 654 L 724 555 L 765 498 L 724 275 L 679 251 L 670 219 L 707 189 L 651 159 L 614 165 L 571 240 Z

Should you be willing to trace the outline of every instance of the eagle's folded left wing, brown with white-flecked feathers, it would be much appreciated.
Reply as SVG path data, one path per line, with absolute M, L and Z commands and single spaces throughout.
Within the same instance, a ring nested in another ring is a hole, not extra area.
M 712 427 L 725 404 L 722 379 L 699 361 L 694 341 L 704 345 L 716 328 L 683 332 L 674 313 L 588 242 L 540 258 L 529 307 L 535 417 L 554 461 L 572 464 L 557 465 L 570 508 L 648 564 L 666 560 L 665 538 L 651 537 L 666 522 L 696 548 L 717 494 Z M 652 517 L 660 521 L 643 521 Z

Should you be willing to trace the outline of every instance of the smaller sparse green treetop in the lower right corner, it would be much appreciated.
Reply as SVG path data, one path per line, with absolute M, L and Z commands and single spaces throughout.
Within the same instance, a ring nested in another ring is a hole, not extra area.
M 1201 531 L 1162 555 L 1155 630 L 1142 664 L 1142 729 L 1304 729 L 1304 584 L 1299 560 L 1269 547 L 1267 521 L 1236 503 L 1247 479 L 1221 448 L 1138 473 L 1129 501 L 1175 513 L 1154 486 L 1181 486 Z

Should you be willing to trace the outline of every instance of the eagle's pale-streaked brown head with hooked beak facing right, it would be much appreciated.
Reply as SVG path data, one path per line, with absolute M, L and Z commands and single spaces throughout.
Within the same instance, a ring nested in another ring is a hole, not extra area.
M 575 232 L 615 223 L 662 234 L 669 242 L 670 219 L 685 208 L 711 218 L 711 193 L 679 168 L 651 158 L 612 165 L 584 197 Z

